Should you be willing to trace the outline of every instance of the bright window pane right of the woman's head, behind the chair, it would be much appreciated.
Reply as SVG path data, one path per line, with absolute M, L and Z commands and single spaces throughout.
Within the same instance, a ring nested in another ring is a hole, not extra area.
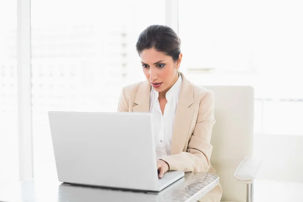
M 290 121 L 303 111 L 302 8 L 300 1 L 179 1 L 183 71 L 199 84 L 254 86 L 255 131 L 303 135 Z

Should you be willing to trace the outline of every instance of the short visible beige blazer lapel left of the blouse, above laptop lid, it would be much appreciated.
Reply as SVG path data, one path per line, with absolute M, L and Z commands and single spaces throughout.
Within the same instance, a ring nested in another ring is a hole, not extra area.
M 133 112 L 149 112 L 150 84 L 143 81 L 134 100 Z

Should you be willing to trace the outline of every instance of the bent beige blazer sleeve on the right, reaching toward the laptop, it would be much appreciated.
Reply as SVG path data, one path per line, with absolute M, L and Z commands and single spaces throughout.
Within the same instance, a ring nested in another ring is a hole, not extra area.
M 211 145 L 214 118 L 214 93 L 209 91 L 201 98 L 195 128 L 187 146 L 187 152 L 171 155 L 162 160 L 169 164 L 170 170 L 185 172 L 207 172 L 210 168 Z

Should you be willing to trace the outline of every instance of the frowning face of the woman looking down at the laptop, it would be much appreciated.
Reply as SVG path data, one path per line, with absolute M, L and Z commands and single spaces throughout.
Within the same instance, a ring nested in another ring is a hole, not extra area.
M 179 60 L 174 62 L 171 56 L 150 48 L 144 49 L 140 58 L 143 73 L 156 91 L 166 91 L 178 80 L 178 69 L 182 54 L 180 54 Z

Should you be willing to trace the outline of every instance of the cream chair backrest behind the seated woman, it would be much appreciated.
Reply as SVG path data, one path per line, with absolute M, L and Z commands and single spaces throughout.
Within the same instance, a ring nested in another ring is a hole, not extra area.
M 222 200 L 246 201 L 246 184 L 237 182 L 239 163 L 252 156 L 254 89 L 251 86 L 204 86 L 215 94 L 211 164 L 220 177 Z

